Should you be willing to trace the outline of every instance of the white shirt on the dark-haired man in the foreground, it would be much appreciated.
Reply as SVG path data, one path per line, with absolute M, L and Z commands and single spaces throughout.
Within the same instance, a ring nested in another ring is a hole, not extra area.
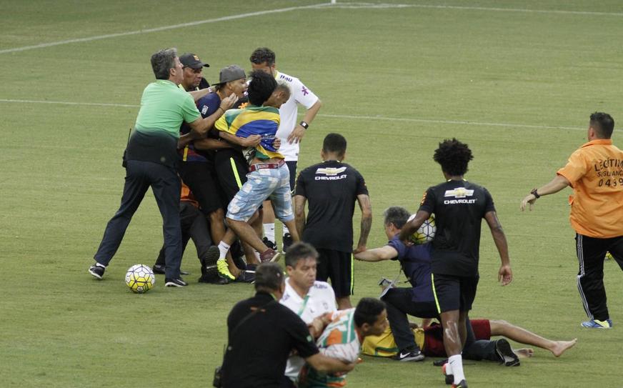
M 322 314 L 337 311 L 335 293 L 331 284 L 316 281 L 309 289 L 306 297 L 301 298 L 290 286 L 289 280 L 289 278 L 286 279 L 286 290 L 279 303 L 298 314 L 306 324 L 311 324 L 314 318 L 320 317 Z M 286 365 L 286 376 L 296 381 L 296 377 L 299 376 L 304 364 L 305 360 L 299 356 L 289 357 Z

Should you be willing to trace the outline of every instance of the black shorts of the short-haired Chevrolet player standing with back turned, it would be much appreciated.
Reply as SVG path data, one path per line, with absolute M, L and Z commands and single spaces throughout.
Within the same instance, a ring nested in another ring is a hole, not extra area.
M 317 251 L 319 257 L 316 279 L 322 282 L 331 279 L 331 287 L 337 298 L 352 295 L 354 289 L 352 253 L 322 248 Z

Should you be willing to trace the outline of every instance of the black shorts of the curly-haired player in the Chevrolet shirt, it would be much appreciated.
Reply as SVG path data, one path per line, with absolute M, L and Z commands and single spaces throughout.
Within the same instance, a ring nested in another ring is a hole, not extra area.
M 437 311 L 450 312 L 459 310 L 469 312 L 476 297 L 478 276 L 457 277 L 453 275 L 432 274 L 433 295 Z

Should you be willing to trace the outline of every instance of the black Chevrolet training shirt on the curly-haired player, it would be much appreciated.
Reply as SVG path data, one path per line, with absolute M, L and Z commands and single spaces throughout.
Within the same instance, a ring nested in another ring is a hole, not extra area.
M 432 273 L 476 276 L 480 225 L 484 214 L 495 212 L 489 191 L 468 181 L 446 181 L 429 187 L 419 210 L 435 214 Z

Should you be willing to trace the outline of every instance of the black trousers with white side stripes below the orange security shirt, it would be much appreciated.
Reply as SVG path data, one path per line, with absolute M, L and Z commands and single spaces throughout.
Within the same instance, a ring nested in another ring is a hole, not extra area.
M 582 234 L 575 236 L 577 261 L 577 289 L 584 311 L 589 319 L 604 321 L 610 318 L 604 287 L 604 256 L 610 252 L 623 269 L 623 236 L 597 239 Z

